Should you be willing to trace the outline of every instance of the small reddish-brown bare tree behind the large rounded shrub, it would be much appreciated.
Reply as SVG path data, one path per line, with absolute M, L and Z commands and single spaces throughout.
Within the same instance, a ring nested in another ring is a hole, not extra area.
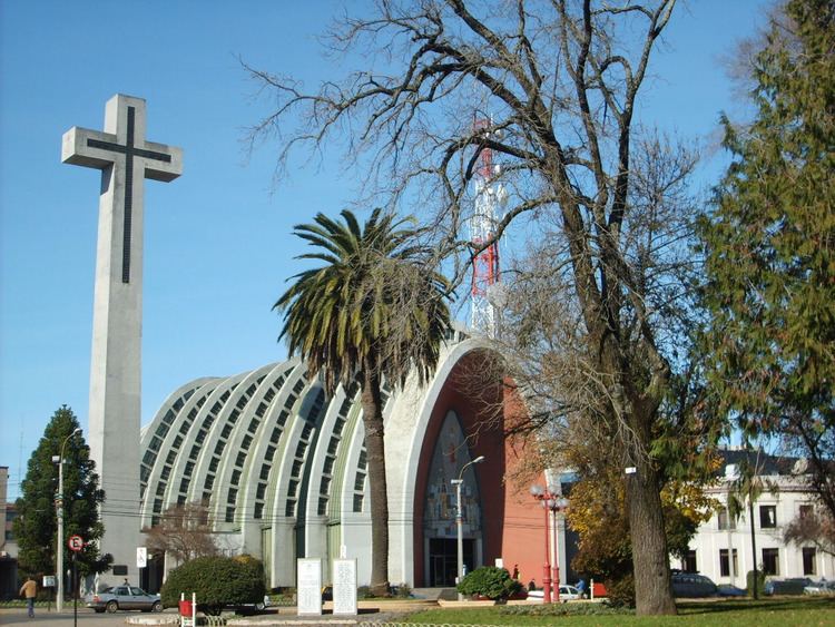
M 168 553 L 178 564 L 218 553 L 209 509 L 204 503 L 171 506 L 160 516 L 159 525 L 146 527 L 143 532 L 151 552 Z

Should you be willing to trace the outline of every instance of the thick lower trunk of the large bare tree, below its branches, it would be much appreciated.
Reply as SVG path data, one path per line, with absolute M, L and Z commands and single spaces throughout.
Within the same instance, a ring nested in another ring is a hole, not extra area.
M 626 476 L 626 496 L 636 613 L 639 616 L 676 614 L 658 476 L 646 457 L 638 455 L 635 463 L 637 472 Z

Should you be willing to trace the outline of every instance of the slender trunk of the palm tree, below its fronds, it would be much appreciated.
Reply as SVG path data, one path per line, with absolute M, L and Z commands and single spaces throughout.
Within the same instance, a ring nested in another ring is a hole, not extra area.
M 362 405 L 371 498 L 371 591 L 375 596 L 389 594 L 389 489 L 380 388 L 380 376 L 373 366 L 365 364 Z

